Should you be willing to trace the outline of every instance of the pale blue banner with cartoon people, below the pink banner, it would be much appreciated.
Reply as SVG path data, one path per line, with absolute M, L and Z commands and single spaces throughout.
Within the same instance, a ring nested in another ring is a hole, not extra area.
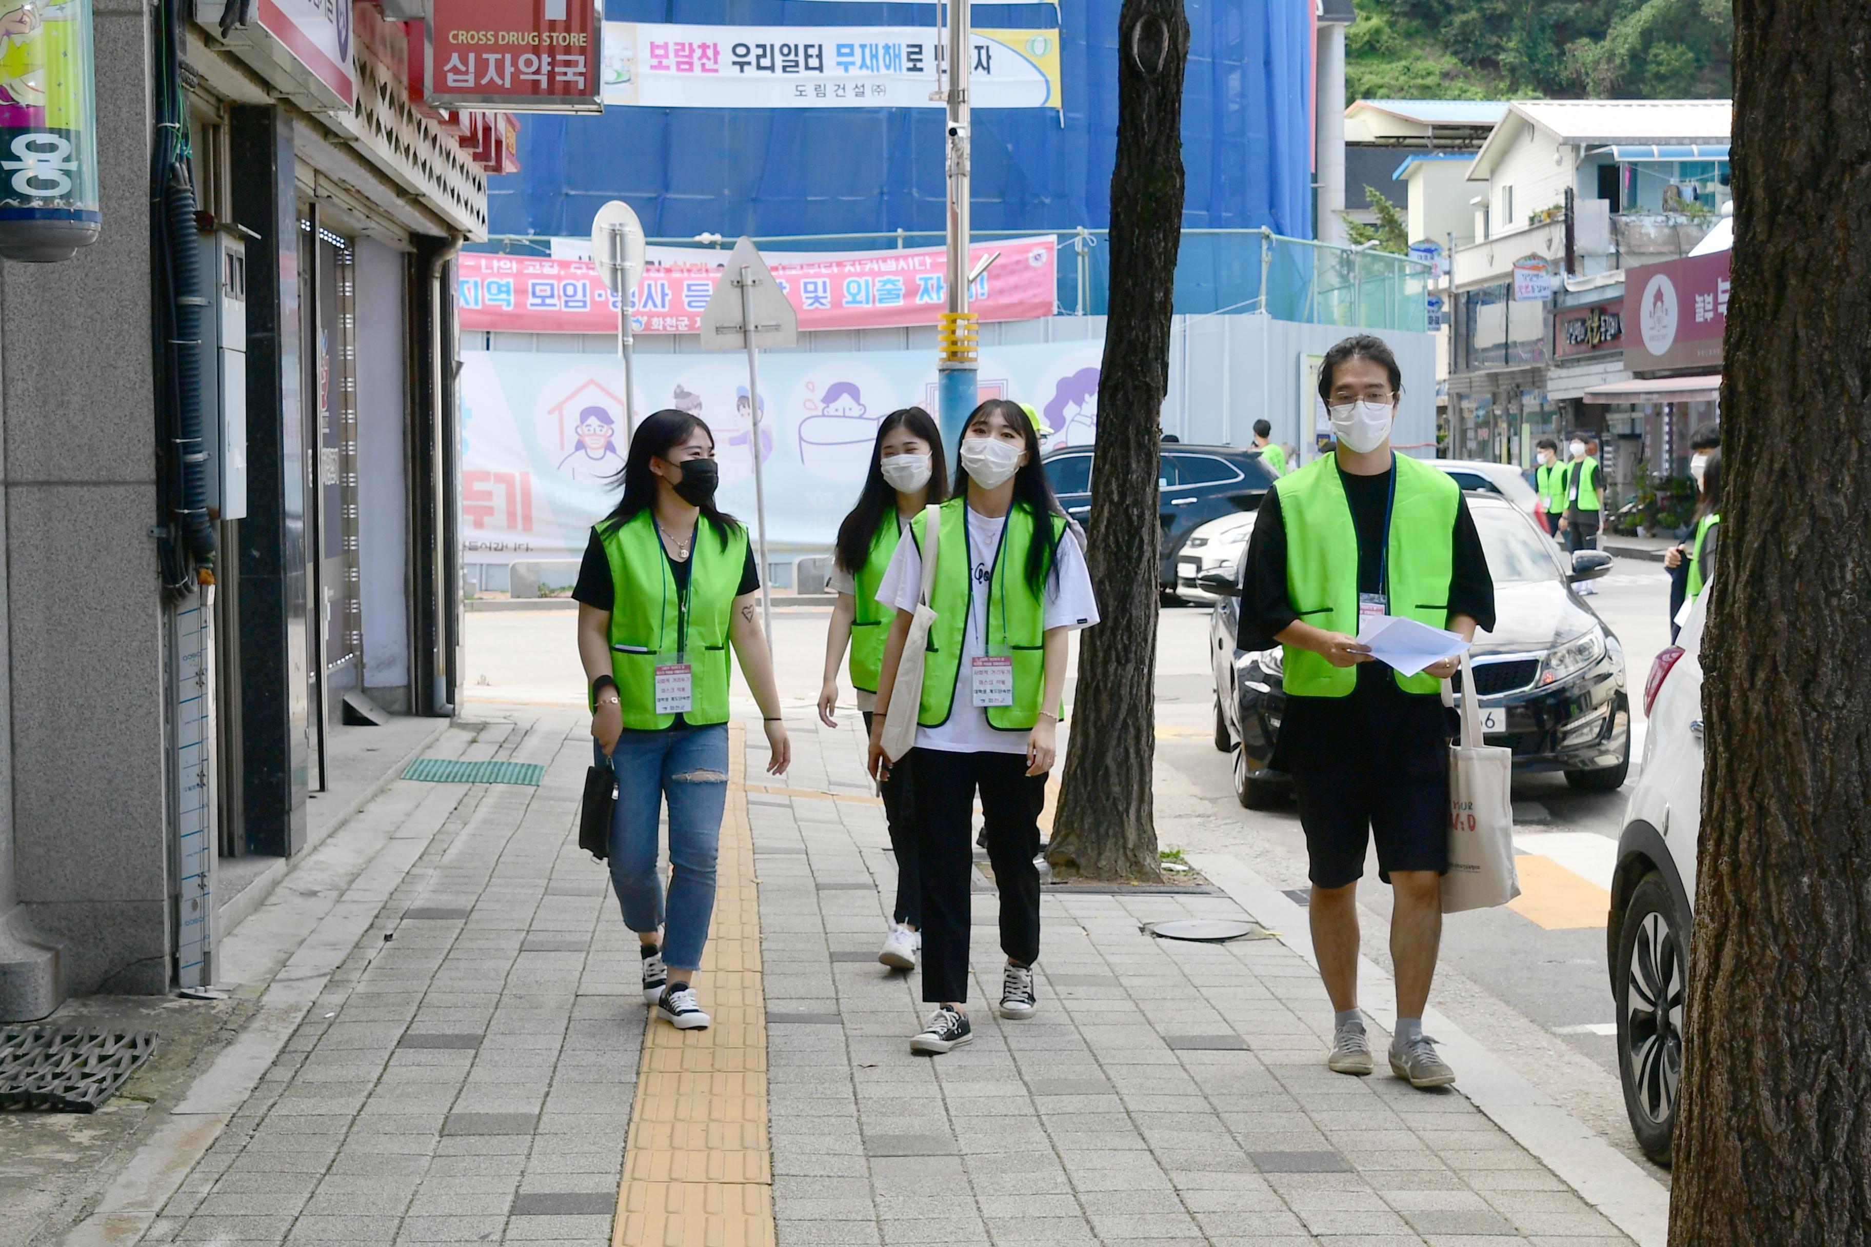
M 1031 404 L 1048 451 L 1098 430 L 1102 338 L 986 348 L 980 396 Z M 829 550 L 870 467 L 877 423 L 936 409 L 932 351 L 760 357 L 767 542 L 782 555 Z M 715 432 L 720 503 L 754 518 L 752 402 L 739 355 L 638 355 L 636 409 L 694 411 Z M 576 559 L 616 505 L 610 477 L 629 445 L 621 366 L 610 355 L 462 355 L 462 559 Z

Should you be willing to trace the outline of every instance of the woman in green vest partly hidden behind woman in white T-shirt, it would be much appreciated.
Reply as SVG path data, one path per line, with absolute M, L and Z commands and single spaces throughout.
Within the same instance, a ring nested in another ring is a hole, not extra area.
M 851 688 L 870 733 L 877 701 L 877 673 L 883 667 L 883 639 L 896 619 L 894 606 L 877 602 L 877 585 L 891 566 L 904 525 L 922 514 L 928 503 L 949 495 L 949 466 L 943 462 L 941 430 L 922 408 L 891 411 L 877 424 L 877 445 L 870 454 L 870 475 L 857 507 L 838 525 L 838 553 L 831 587 L 838 604 L 825 632 L 825 684 L 819 688 L 819 722 L 836 727 L 838 662 L 851 647 Z M 922 948 L 922 875 L 917 871 L 915 761 L 904 757 L 891 767 L 877 787 L 883 817 L 891 826 L 891 854 L 896 858 L 896 909 L 877 961 L 898 970 L 917 968 Z

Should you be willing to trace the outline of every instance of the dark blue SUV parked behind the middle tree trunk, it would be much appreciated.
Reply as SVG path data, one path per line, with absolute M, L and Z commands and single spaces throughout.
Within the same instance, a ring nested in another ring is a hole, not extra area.
M 1053 451 L 1046 464 L 1059 505 L 1074 520 L 1091 514 L 1091 452 L 1095 447 Z M 1158 522 L 1164 525 L 1162 591 L 1175 591 L 1175 555 L 1199 525 L 1237 510 L 1255 510 L 1274 484 L 1274 469 L 1259 451 L 1197 447 L 1166 441 L 1156 469 Z

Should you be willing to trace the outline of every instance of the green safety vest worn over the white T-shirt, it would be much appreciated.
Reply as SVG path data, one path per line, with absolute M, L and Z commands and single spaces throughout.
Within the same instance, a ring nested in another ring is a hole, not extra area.
M 917 550 L 924 548 L 924 516 L 909 522 Z M 1059 548 L 1065 535 L 1065 516 L 1050 516 L 1052 544 Z M 1014 705 L 986 707 L 988 725 L 1001 731 L 1027 731 L 1040 718 L 1040 697 L 1046 695 L 1046 604 L 1040 593 L 1027 585 L 1027 548 L 1037 540 L 1033 512 L 1025 503 L 1014 503 L 1001 529 L 1001 548 L 988 572 L 988 652 L 1005 651 L 1014 658 Z M 928 652 L 922 660 L 922 705 L 917 722 L 939 727 L 954 709 L 954 686 L 962 675 L 962 641 L 967 634 L 967 615 L 975 606 L 973 557 L 967 546 L 967 499 L 950 497 L 941 505 L 941 548 L 936 552 L 936 585 L 930 606 L 936 623 L 930 626 Z M 1050 572 L 1048 572 L 1050 574 Z M 1042 581 L 1044 583 L 1044 581 Z M 964 692 L 964 697 L 969 694 Z M 1055 712 L 1063 712 L 1061 701 Z

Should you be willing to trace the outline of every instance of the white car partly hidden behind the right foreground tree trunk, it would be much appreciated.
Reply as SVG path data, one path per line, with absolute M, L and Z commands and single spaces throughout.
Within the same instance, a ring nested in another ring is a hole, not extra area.
M 1643 774 L 1632 789 L 1611 881 L 1605 953 L 1618 1011 L 1618 1075 L 1637 1144 L 1669 1165 L 1682 1079 L 1684 993 L 1703 828 L 1704 591 L 1650 666 Z

